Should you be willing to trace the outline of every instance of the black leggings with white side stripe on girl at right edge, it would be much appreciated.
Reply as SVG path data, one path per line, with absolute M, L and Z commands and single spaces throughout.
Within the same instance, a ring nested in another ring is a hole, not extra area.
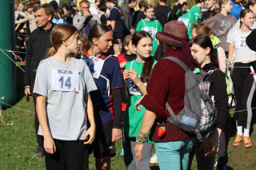
M 250 129 L 251 106 L 255 91 L 254 77 L 250 74 L 250 63 L 234 63 L 232 81 L 237 101 L 235 107 L 237 126 Z

